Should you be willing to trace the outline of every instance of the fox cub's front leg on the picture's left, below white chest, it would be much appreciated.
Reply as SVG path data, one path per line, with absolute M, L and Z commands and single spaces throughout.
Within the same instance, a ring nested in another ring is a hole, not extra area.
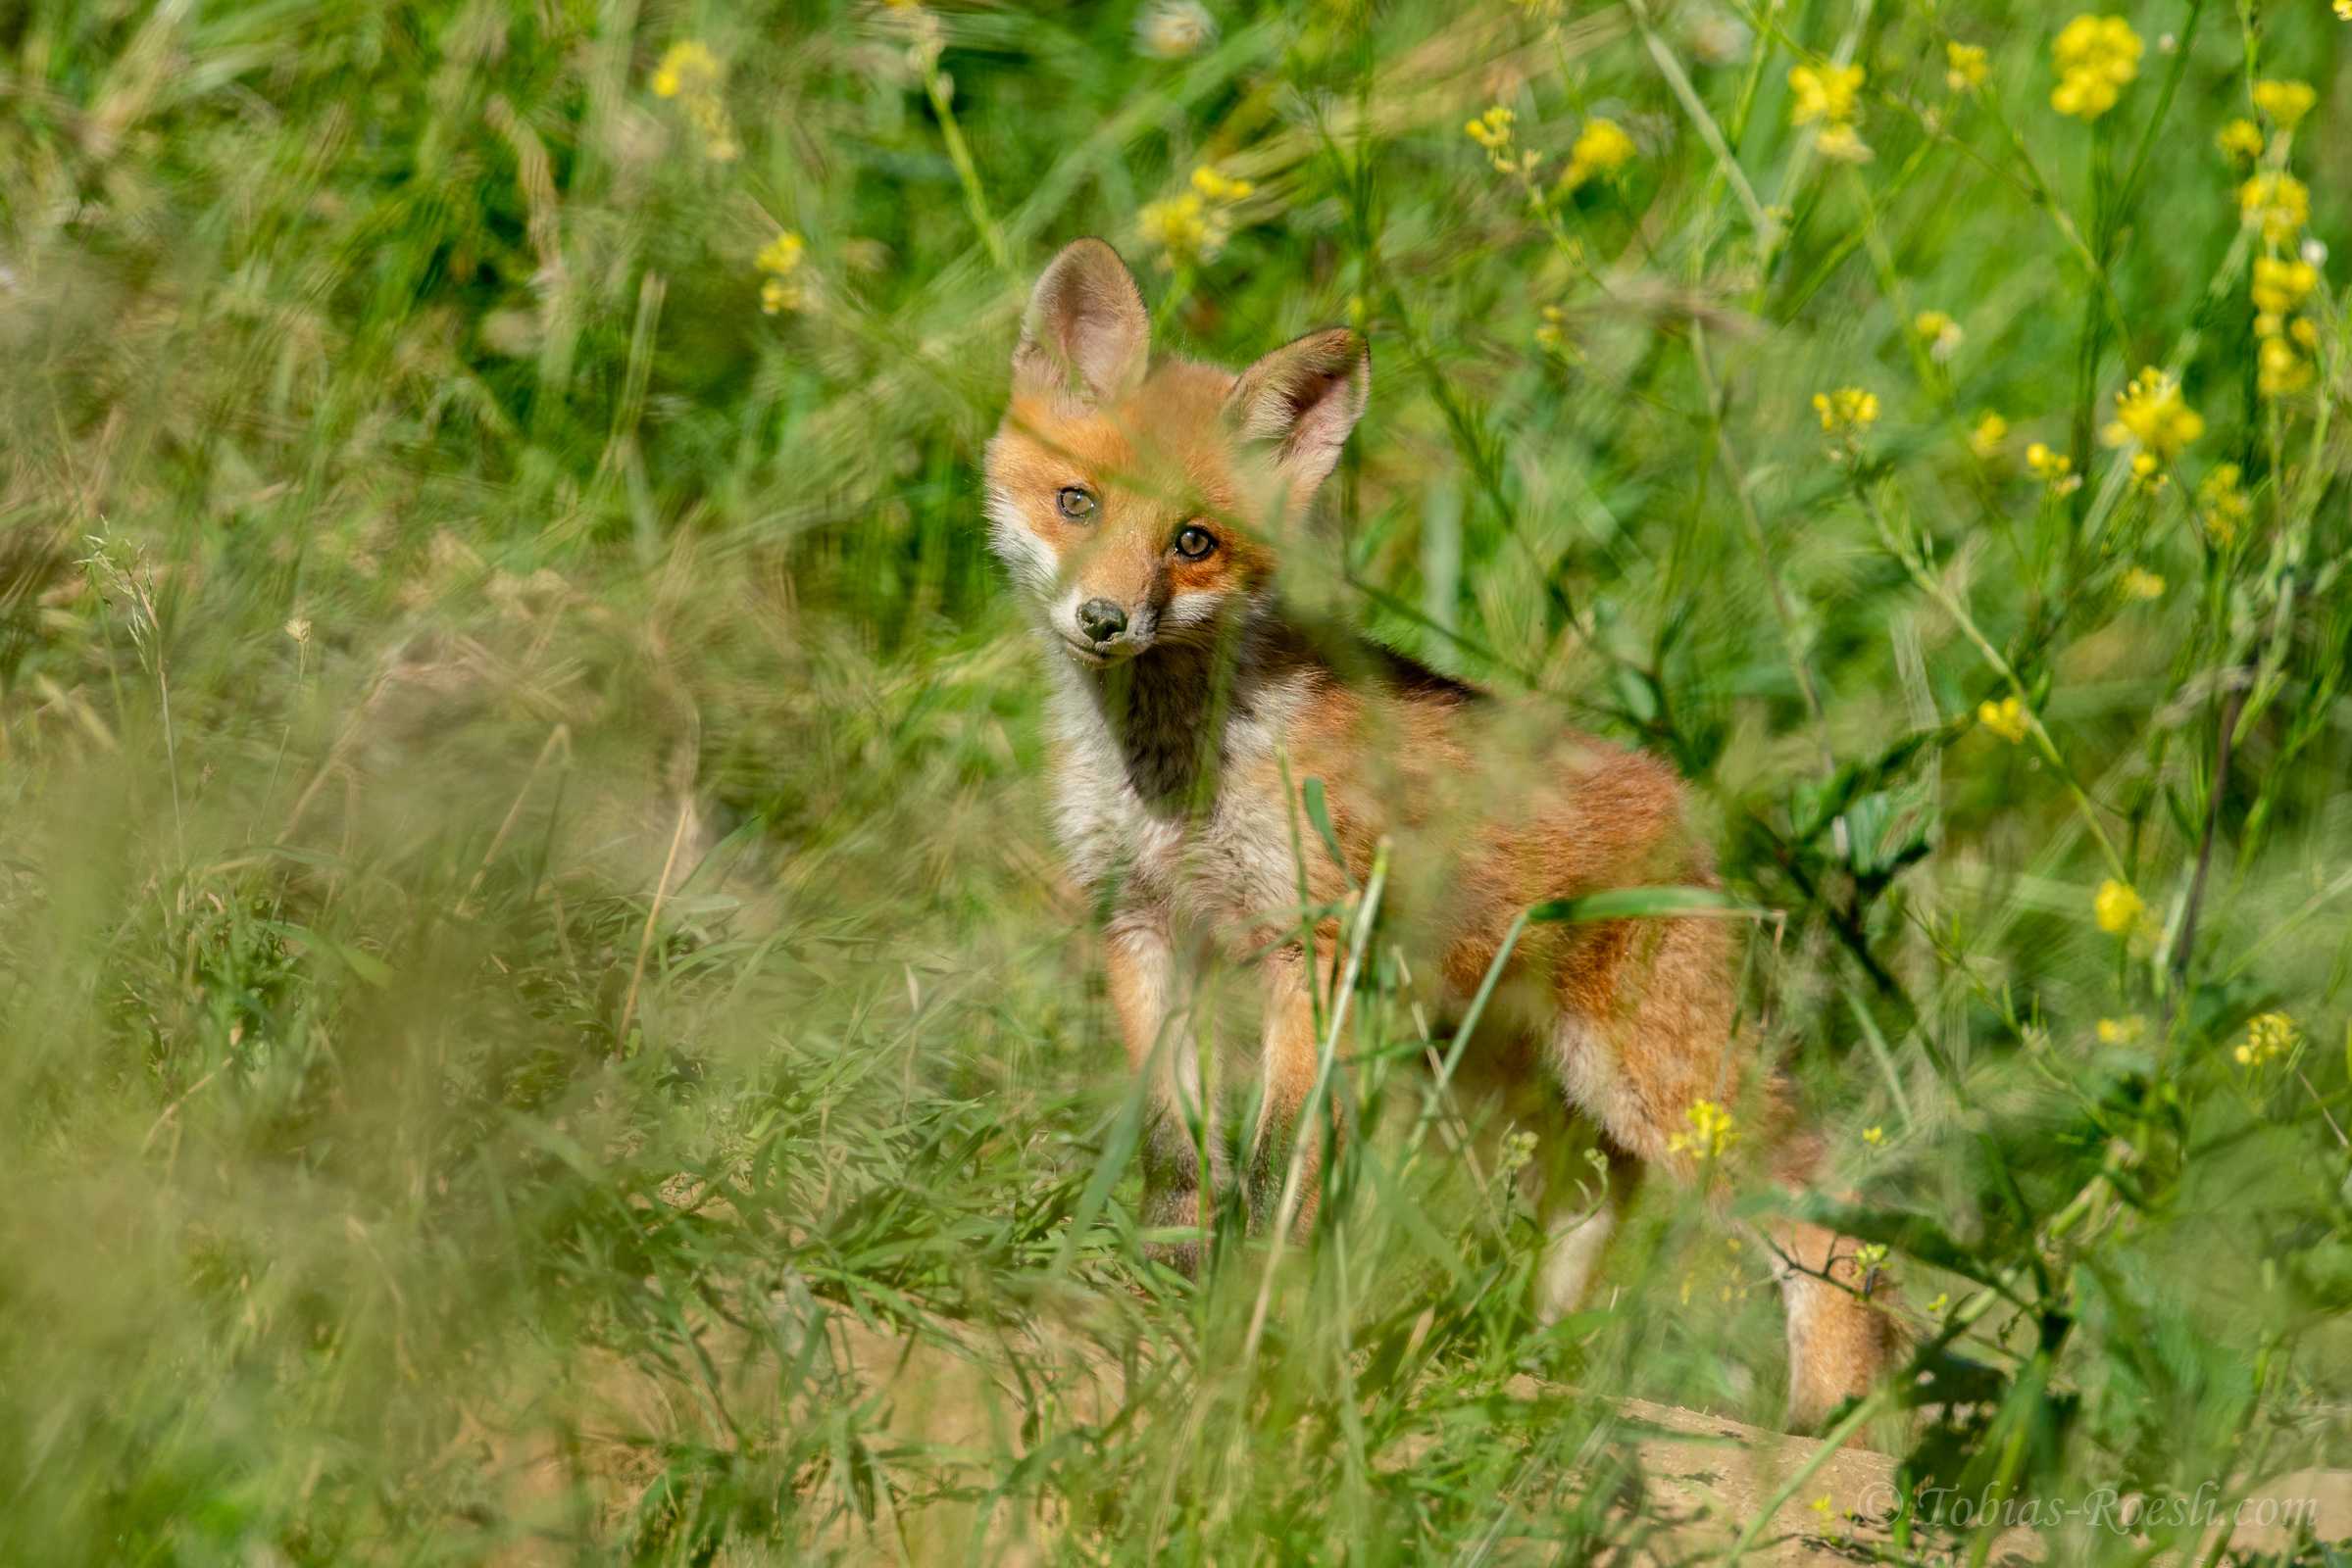
M 1176 943 L 1169 922 L 1157 912 L 1115 914 L 1110 940 L 1110 1004 L 1120 1011 L 1120 1037 L 1127 1041 L 1127 1065 L 1150 1074 L 1143 1124 L 1143 1225 L 1209 1227 L 1209 1201 L 1202 1197 L 1200 1145 L 1195 1121 L 1216 1150 L 1214 1110 L 1202 1103 L 1200 1051 L 1185 1018 L 1176 1009 Z M 1216 1171 L 1211 1168 L 1211 1175 Z M 1155 1246 L 1162 1262 L 1200 1272 L 1200 1244 Z

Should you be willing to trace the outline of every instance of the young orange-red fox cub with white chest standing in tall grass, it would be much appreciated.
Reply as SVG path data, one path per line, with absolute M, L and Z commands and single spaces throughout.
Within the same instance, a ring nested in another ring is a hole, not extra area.
M 1298 929 L 1303 900 L 1338 907 L 1390 842 L 1406 867 L 1390 903 L 1411 910 L 1458 1018 L 1531 905 L 1719 889 L 1719 877 L 1668 764 L 1287 604 L 1287 541 L 1371 395 L 1362 334 L 1312 331 L 1242 371 L 1155 355 L 1150 336 L 1143 292 L 1110 244 L 1075 240 L 1054 256 L 1021 320 L 983 510 L 1044 649 L 1054 832 L 1073 882 L 1101 900 L 1110 1004 L 1131 1072 L 1150 1074 L 1141 1220 L 1192 1229 L 1232 1182 L 1223 1140 L 1195 1140 L 1192 1117 L 1214 1128 L 1218 1107 L 1202 1098 L 1200 1044 L 1178 1020 L 1188 966 L 1223 947 L 1263 976 L 1249 1222 L 1275 1218 L 1303 1161 L 1310 1180 L 1291 1204 L 1303 1239 L 1329 1150 L 1298 1119 L 1341 945 L 1336 919 Z M 1338 858 L 1319 832 L 1298 832 L 1308 780 L 1322 783 Z M 1609 1175 L 1602 1201 L 1585 1204 L 1562 1159 L 1529 1166 L 1548 1173 L 1545 1319 L 1585 1300 L 1646 1171 L 1693 1180 L 1691 1110 L 1736 1100 L 1736 943 L 1726 919 L 1646 917 L 1529 926 L 1510 950 L 1486 1013 L 1496 1023 L 1479 1034 L 1517 1044 L 1472 1041 L 1472 1053 L 1515 1103 L 1581 1114 Z M 1783 1098 L 1776 1079 L 1764 1098 Z M 1336 1117 L 1329 1135 L 1348 1135 Z M 1557 1143 L 1557 1121 L 1541 1138 Z M 1818 1150 L 1818 1138 L 1783 1138 L 1776 1171 L 1802 1185 Z M 1863 1295 L 1851 1239 L 1795 1220 L 1776 1220 L 1769 1239 L 1788 1314 L 1788 1422 L 1806 1429 L 1886 1378 L 1900 1335 L 1884 1288 Z M 1200 1241 L 1162 1255 L 1202 1265 Z

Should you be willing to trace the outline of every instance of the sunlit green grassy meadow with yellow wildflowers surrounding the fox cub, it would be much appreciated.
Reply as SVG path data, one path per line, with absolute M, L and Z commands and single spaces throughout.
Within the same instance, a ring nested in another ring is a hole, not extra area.
M 1611 1399 L 1778 1422 L 1790 1204 L 1919 1340 L 1835 1420 L 1889 1561 L 2352 1465 L 2347 63 L 2347 0 L 0 5 L 0 1561 L 1632 1561 Z M 1691 780 L 1823 1190 L 1733 1105 L 1541 1324 L 1359 900 L 1312 1246 L 1150 1260 L 978 489 L 1077 235 L 1162 346 L 1369 336 L 1284 592 Z

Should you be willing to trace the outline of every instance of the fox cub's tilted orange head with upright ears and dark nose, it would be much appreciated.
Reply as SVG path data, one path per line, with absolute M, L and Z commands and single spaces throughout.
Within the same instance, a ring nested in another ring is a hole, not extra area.
M 1087 665 L 1207 642 L 1268 588 L 1364 414 L 1371 360 L 1317 331 L 1242 374 L 1150 360 L 1134 275 L 1065 247 L 1030 296 L 988 442 L 990 541 L 1044 628 Z

